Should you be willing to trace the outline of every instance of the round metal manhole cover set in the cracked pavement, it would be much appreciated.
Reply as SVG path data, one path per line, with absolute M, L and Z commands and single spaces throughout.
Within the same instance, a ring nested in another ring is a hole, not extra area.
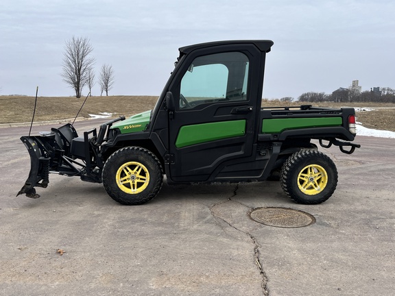
M 250 212 L 252 220 L 274 227 L 296 228 L 315 223 L 313 215 L 291 208 L 257 208 Z

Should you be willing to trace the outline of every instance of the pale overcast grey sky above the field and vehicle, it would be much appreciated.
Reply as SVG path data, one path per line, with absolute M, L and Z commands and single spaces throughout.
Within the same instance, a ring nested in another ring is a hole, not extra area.
M 97 76 L 112 65 L 110 95 L 160 95 L 179 47 L 232 39 L 274 41 L 265 98 L 395 88 L 393 0 L 2 0 L 0 20 L 0 95 L 74 95 L 60 76 L 73 36 L 91 40 Z

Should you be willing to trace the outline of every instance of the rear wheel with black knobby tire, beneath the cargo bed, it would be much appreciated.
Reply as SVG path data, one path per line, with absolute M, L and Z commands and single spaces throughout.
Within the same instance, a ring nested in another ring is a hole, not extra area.
M 298 204 L 321 204 L 335 192 L 337 169 L 324 153 L 298 151 L 285 161 L 280 175 L 281 187 Z

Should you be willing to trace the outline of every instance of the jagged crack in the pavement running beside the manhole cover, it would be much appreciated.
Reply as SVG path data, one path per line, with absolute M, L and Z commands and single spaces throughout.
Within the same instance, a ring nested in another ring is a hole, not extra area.
M 224 223 L 226 223 L 227 225 L 229 225 L 233 229 L 235 229 L 238 232 L 241 232 L 243 234 L 246 234 L 250 238 L 250 241 L 252 241 L 252 243 L 254 244 L 254 262 L 256 264 L 256 267 L 259 269 L 259 274 L 262 277 L 262 282 L 261 282 L 262 295 L 263 296 L 268 296 L 269 295 L 269 290 L 267 289 L 267 276 L 266 276 L 266 273 L 263 270 L 263 267 L 262 267 L 262 264 L 261 264 L 261 252 L 259 251 L 259 248 L 261 247 L 261 245 L 259 245 L 259 243 L 257 242 L 256 238 L 254 238 L 254 236 L 252 234 L 250 234 L 249 232 L 245 232 L 243 230 L 240 230 L 239 228 L 237 228 L 234 225 L 232 225 L 230 222 L 226 221 L 226 219 L 224 219 L 222 217 L 219 217 L 213 211 L 213 208 L 215 206 L 219 206 L 221 204 L 226 204 L 228 201 L 234 201 L 234 200 L 232 200 L 232 197 L 235 197 L 237 195 L 237 190 L 239 190 L 239 184 L 236 185 L 235 190 L 233 190 L 233 195 L 231 197 L 228 197 L 228 199 L 226 201 L 222 201 L 222 202 L 219 202 L 219 203 L 214 204 L 213 206 L 211 206 L 210 212 L 213 215 L 216 223 L 217 223 L 217 219 L 220 219 L 221 221 L 223 221 Z M 245 206 L 246 208 L 249 208 L 245 204 L 242 204 L 240 201 L 235 201 L 235 202 L 237 202 L 238 204 L 241 204 L 242 206 Z M 217 225 L 219 227 L 221 227 L 221 229 L 225 232 L 224 227 L 222 227 L 222 225 L 220 225 L 219 223 L 217 223 Z

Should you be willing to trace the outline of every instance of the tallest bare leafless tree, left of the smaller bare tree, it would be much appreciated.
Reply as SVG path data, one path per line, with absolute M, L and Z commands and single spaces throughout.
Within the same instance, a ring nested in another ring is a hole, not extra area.
M 75 90 L 75 97 L 80 98 L 82 88 L 88 82 L 89 70 L 95 64 L 90 54 L 93 47 L 88 38 L 71 38 L 64 46 L 63 81 Z

